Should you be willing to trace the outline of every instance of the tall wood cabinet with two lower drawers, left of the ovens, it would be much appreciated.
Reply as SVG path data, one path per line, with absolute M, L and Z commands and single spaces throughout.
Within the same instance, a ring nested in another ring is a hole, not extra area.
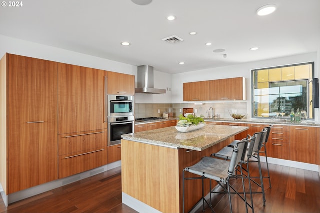
M 58 63 L 58 178 L 107 164 L 106 76 Z

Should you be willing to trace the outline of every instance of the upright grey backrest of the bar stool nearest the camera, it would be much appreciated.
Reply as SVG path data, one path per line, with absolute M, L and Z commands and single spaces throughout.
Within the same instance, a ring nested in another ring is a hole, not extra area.
M 234 174 L 237 165 L 243 161 L 243 153 L 246 151 L 246 147 L 251 138 L 244 138 L 237 142 L 232 150 L 232 155 L 230 159 L 230 164 L 228 168 L 228 175 Z

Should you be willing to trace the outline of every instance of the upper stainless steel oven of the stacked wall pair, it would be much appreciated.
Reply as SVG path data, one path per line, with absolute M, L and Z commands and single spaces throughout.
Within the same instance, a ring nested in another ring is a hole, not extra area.
M 133 115 L 133 96 L 108 95 L 108 116 Z

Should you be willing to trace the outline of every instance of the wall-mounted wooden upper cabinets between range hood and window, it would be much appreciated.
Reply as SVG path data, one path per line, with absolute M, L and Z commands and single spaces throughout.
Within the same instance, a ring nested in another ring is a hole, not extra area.
M 244 77 L 183 83 L 183 101 L 245 99 Z

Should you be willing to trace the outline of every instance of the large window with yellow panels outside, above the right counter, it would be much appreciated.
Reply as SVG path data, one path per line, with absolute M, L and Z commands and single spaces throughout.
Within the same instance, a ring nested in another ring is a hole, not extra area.
M 314 62 L 252 70 L 252 118 L 289 117 L 291 109 L 314 118 Z

